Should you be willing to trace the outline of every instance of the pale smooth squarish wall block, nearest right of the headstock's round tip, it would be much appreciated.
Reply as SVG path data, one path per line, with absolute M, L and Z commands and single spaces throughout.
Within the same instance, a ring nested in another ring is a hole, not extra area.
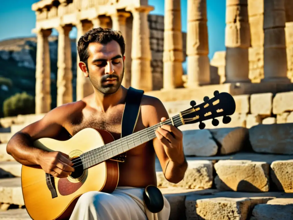
M 262 117 L 270 116 L 272 114 L 272 97 L 271 92 L 252 94 L 250 96 L 251 114 L 258 114 Z

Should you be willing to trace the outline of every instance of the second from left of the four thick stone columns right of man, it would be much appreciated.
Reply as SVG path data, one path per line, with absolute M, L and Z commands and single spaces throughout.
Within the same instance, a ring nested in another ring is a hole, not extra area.
M 206 0 L 187 1 L 187 83 L 195 87 L 210 83 Z

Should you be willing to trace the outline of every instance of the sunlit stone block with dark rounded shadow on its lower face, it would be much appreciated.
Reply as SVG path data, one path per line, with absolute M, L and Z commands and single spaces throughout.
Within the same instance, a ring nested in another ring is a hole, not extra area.
M 215 184 L 221 191 L 268 192 L 269 164 L 251 160 L 219 160 Z

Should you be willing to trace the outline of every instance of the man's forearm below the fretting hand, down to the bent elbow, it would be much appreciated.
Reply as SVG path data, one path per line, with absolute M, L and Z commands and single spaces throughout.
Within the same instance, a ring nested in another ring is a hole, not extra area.
M 188 164 L 185 157 L 182 163 L 176 163 L 169 159 L 165 170 L 166 180 L 172 183 L 180 182 L 181 180 L 183 180 L 187 167 Z

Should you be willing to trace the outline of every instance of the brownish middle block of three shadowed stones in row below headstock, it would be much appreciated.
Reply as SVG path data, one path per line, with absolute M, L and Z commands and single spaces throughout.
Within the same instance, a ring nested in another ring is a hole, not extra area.
M 248 129 L 243 127 L 236 128 L 217 128 L 210 132 L 217 143 L 220 144 L 221 154 L 230 154 L 242 150 L 248 142 Z

